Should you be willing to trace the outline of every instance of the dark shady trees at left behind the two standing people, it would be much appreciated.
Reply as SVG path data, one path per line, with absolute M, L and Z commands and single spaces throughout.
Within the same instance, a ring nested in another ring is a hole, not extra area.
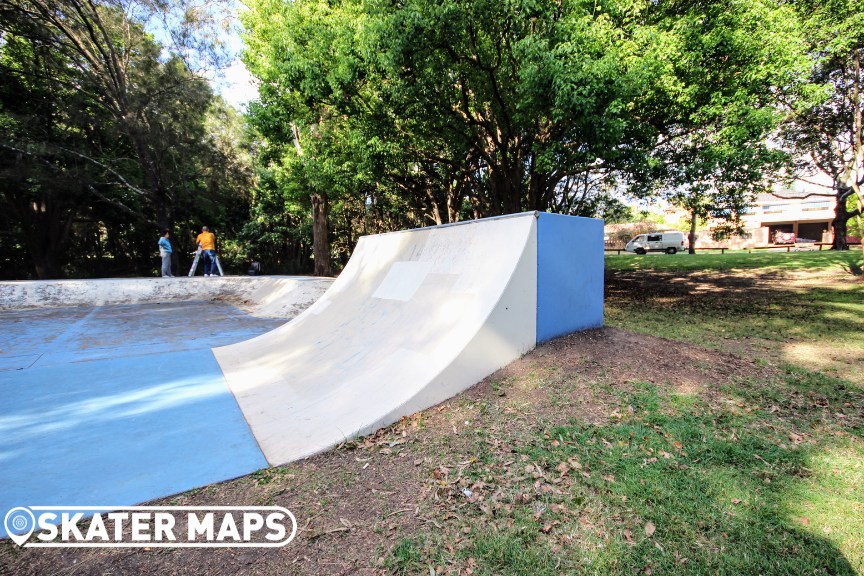
M 147 0 L 0 8 L 5 277 L 149 275 L 161 228 L 176 226 L 181 267 L 202 223 L 238 232 L 244 121 L 184 60 L 203 55 L 191 21 L 164 55 L 145 32 L 175 15 Z

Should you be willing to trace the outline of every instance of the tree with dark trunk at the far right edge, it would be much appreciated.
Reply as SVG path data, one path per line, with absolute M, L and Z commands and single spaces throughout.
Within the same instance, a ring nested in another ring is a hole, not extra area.
M 790 95 L 783 137 L 801 159 L 799 174 L 818 170 L 831 177 L 830 192 L 811 195 L 835 199 L 832 249 L 847 250 L 848 222 L 864 211 L 864 7 L 850 0 L 805 0 L 796 7 L 813 68 L 810 83 Z

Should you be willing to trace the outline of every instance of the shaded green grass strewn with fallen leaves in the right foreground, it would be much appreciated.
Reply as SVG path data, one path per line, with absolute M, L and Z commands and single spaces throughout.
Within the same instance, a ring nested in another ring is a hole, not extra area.
M 795 375 L 785 382 L 808 398 L 830 384 Z M 749 392 L 751 400 L 770 400 Z M 860 402 L 859 396 L 841 390 L 831 401 Z M 467 486 L 491 496 L 460 498 L 459 488 L 446 514 L 460 522 L 402 540 L 388 567 L 403 574 L 448 567 L 445 573 L 470 568 L 490 575 L 856 574 L 864 568 L 864 551 L 854 551 L 854 567 L 819 526 L 796 516 L 793 499 L 812 496 L 801 486 L 825 472 L 815 469 L 814 456 L 833 442 L 830 434 L 820 442 L 790 442 L 789 432 L 807 419 L 806 407 L 776 413 L 738 402 L 725 409 L 666 395 L 649 383 L 619 391 L 619 400 L 620 416 L 607 425 L 555 427 L 514 446 L 516 455 L 498 467 L 515 466 L 516 475 L 469 477 Z M 855 450 L 864 457 L 860 442 Z M 843 511 L 830 513 L 842 524 Z

